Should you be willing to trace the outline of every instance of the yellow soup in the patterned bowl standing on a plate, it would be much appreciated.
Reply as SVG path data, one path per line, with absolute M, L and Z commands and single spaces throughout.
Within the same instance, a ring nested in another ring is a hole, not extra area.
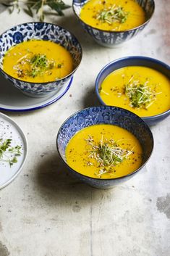
M 64 47 L 52 41 L 31 40 L 7 51 L 3 70 L 14 78 L 33 83 L 46 83 L 69 75 L 72 57 Z

